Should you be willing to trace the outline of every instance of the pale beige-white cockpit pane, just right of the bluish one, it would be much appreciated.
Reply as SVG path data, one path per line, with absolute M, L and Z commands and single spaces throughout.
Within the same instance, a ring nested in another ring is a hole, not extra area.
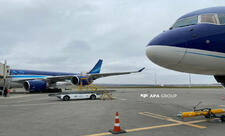
M 216 14 L 199 15 L 199 23 L 219 24 Z

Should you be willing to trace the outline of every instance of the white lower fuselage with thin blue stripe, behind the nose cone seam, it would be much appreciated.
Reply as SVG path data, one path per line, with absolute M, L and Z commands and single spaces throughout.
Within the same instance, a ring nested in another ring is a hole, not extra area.
M 225 75 L 225 54 L 198 49 L 187 49 L 183 60 L 177 65 L 178 71 Z

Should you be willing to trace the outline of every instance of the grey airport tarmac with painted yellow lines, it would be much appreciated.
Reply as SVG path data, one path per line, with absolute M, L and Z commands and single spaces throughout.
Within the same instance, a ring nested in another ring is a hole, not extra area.
M 104 136 L 115 113 L 127 133 L 121 136 L 224 135 L 225 123 L 204 117 L 180 119 L 179 112 L 224 108 L 224 89 L 123 88 L 114 100 L 61 101 L 48 94 L 0 97 L 0 136 Z

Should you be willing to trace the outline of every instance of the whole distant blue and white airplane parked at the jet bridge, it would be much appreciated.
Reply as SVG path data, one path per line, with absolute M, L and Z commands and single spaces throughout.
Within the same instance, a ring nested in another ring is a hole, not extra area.
M 47 71 L 34 71 L 34 70 L 20 70 L 10 69 L 7 78 L 7 87 L 24 87 L 27 91 L 37 92 L 45 90 L 57 89 L 57 82 L 71 81 L 73 85 L 89 85 L 94 80 L 102 77 L 124 75 L 131 73 L 138 73 L 138 71 L 131 72 L 117 72 L 117 73 L 100 73 L 103 60 L 99 60 L 97 64 L 85 75 L 79 73 L 65 73 L 65 72 L 47 72 Z M 3 87 L 1 82 L 0 87 Z

